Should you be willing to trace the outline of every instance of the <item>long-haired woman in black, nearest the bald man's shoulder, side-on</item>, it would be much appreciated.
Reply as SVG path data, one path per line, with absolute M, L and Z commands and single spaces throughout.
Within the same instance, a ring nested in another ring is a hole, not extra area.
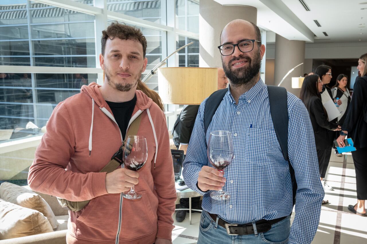
M 331 142 L 329 141 L 328 131 L 340 130 L 337 123 L 329 122 L 326 111 L 322 105 L 320 92 L 323 88 L 323 82 L 319 75 L 308 75 L 303 81 L 299 98 L 305 104 L 309 114 L 315 134 L 316 152 L 319 160 L 320 180 L 325 177 L 327 166 L 331 155 Z M 322 204 L 328 203 L 323 200 Z

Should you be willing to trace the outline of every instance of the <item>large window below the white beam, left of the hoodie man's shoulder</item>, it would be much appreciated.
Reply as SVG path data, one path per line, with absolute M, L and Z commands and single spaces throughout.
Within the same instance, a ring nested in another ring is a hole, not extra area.
M 40 134 L 57 104 L 91 82 L 97 74 L 1 73 L 0 129 L 14 130 L 14 139 Z M 28 130 L 32 123 L 35 129 Z

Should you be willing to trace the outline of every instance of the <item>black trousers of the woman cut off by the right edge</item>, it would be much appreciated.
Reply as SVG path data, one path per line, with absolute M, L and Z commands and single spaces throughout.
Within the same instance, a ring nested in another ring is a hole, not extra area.
M 357 148 L 352 152 L 356 170 L 357 199 L 367 200 L 367 148 Z

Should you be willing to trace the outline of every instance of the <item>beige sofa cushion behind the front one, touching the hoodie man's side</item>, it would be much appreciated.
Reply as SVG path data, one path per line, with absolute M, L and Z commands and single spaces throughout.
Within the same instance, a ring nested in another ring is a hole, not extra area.
M 7 202 L 41 212 L 50 222 L 52 229 L 58 226 L 54 212 L 48 203 L 38 194 L 22 186 L 4 182 L 0 185 L 0 197 Z

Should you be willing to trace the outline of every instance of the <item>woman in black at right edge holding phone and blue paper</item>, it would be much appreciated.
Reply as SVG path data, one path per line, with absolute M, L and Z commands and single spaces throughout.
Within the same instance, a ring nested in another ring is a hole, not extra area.
M 346 134 L 353 139 L 353 163 L 356 170 L 357 203 L 349 205 L 349 211 L 365 216 L 365 202 L 367 200 L 367 53 L 360 56 L 357 69 L 361 77 L 357 78 L 353 86 L 353 96 L 349 110 L 342 126 L 342 132 L 337 141 L 345 147 Z

